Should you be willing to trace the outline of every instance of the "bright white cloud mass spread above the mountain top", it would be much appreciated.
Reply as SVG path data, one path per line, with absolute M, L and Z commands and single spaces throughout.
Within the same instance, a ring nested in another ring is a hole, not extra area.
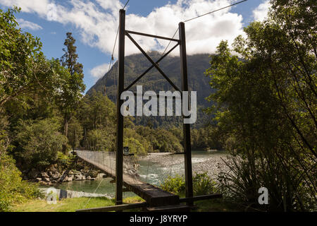
M 46 19 L 49 0 L 0 0 L 0 4 L 20 6 L 24 12 L 37 13 Z M 171 37 L 178 28 L 178 23 L 194 18 L 209 11 L 228 6 L 232 0 L 178 0 L 160 8 L 154 8 L 147 16 L 129 13 L 126 15 L 126 29 L 147 32 L 153 35 Z M 37 5 L 39 4 L 39 5 Z M 133 4 L 133 1 L 131 1 Z M 35 7 L 36 6 L 36 7 Z M 70 0 L 69 4 L 56 3 L 56 22 L 74 25 L 80 31 L 81 41 L 97 47 L 104 53 L 111 53 L 118 29 L 118 11 L 123 4 L 117 0 Z M 231 43 L 237 35 L 242 35 L 242 16 L 230 13 L 230 8 L 206 15 L 185 23 L 187 54 L 213 53 L 220 40 Z M 168 41 L 154 40 L 150 37 L 132 35 L 140 46 L 146 50 L 163 51 Z M 178 38 L 178 32 L 175 35 Z M 125 39 L 125 55 L 139 53 L 139 49 Z M 171 47 L 171 46 L 170 46 Z M 118 42 L 115 56 L 118 53 Z M 173 54 L 179 54 L 178 48 Z

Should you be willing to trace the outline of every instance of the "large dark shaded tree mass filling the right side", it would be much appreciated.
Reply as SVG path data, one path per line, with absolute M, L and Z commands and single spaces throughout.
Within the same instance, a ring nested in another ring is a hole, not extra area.
M 272 4 L 234 49 L 220 42 L 206 71 L 216 90 L 209 112 L 237 155 L 226 160 L 223 194 L 257 206 L 265 186 L 269 210 L 316 209 L 316 4 Z

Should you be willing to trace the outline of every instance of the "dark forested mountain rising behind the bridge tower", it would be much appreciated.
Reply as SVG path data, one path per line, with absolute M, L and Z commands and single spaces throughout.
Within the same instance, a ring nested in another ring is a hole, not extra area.
M 149 52 L 148 54 L 154 61 L 161 57 L 159 52 Z M 197 122 L 193 125 L 194 127 L 202 126 L 209 118 L 202 112 L 202 109 L 211 105 L 211 103 L 205 100 L 205 98 L 212 92 L 209 85 L 210 79 L 204 75 L 204 72 L 210 66 L 209 61 L 209 54 L 195 54 L 187 56 L 189 90 L 197 91 L 197 108 L 199 109 L 197 113 Z M 132 54 L 125 57 L 125 87 L 130 85 L 130 83 L 147 70 L 149 66 L 151 66 L 151 63 L 146 57 L 144 57 L 143 54 Z M 170 78 L 170 80 L 173 81 L 178 88 L 181 88 L 180 57 L 167 56 L 159 63 L 159 66 L 164 73 L 166 73 L 166 76 L 168 76 L 168 78 Z M 109 99 L 114 102 L 117 92 L 117 77 L 118 61 L 114 64 L 111 70 L 108 71 L 108 73 L 100 78 L 99 81 L 97 81 L 97 83 L 87 91 L 87 95 L 91 94 L 92 90 L 101 91 L 102 93 L 106 93 Z M 136 85 L 143 85 L 143 92 L 147 90 L 153 90 L 156 93 L 163 90 L 174 91 L 173 87 L 155 68 L 151 69 L 151 71 L 133 85 L 130 90 L 135 92 Z M 137 118 L 140 118 L 137 119 L 137 124 L 148 123 L 148 117 L 144 117 L 144 119 L 142 119 L 142 117 Z M 156 117 L 156 120 L 154 120 L 154 126 L 169 125 L 171 121 L 175 121 L 175 117 Z M 180 124 L 180 122 L 180 119 L 176 119 L 176 124 Z M 151 124 L 153 124 L 152 121 Z

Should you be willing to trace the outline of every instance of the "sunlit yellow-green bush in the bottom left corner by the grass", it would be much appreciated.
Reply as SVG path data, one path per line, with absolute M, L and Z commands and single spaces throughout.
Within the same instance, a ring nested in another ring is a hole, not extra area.
M 0 158 L 0 212 L 11 210 L 13 203 L 21 203 L 41 196 L 36 186 L 22 181 L 21 172 L 9 155 Z

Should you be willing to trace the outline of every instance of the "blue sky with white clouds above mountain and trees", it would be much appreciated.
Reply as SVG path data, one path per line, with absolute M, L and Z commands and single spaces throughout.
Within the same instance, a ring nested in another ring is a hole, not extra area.
M 172 36 L 180 20 L 213 11 L 236 1 L 232 0 L 130 0 L 126 8 L 127 29 Z M 56 16 L 48 20 L 48 6 L 54 4 Z M 77 40 L 78 61 L 84 65 L 86 91 L 96 83 L 107 70 L 111 49 L 118 28 L 118 9 L 125 1 L 116 0 L 0 0 L 0 7 L 20 6 L 22 12 L 16 15 L 20 27 L 42 40 L 42 51 L 47 58 L 63 55 L 66 32 L 73 32 Z M 254 18 L 263 19 L 268 4 L 262 0 L 249 0 L 216 15 L 209 15 L 185 24 L 187 52 L 212 53 L 220 40 L 230 42 L 242 34 L 242 28 Z M 147 50 L 165 49 L 167 42 L 155 42 L 149 38 L 137 37 Z M 127 44 L 126 55 L 137 53 Z M 178 52 L 175 52 L 177 54 Z M 115 52 L 115 57 L 117 50 Z

